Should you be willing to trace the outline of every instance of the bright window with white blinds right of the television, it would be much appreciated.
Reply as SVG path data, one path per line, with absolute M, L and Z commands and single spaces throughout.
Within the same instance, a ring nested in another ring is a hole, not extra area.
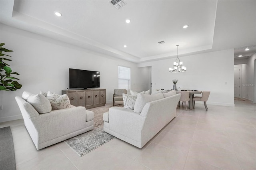
M 118 66 L 118 89 L 129 90 L 131 87 L 131 69 Z

